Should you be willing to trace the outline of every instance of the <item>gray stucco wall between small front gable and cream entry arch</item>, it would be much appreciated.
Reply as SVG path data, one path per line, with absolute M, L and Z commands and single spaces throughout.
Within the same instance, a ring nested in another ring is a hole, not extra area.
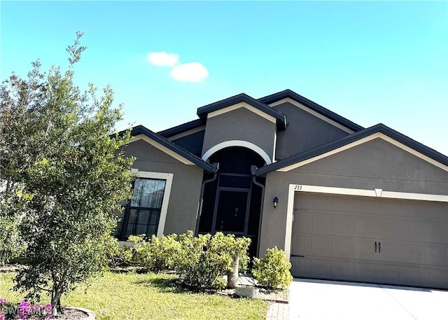
M 260 147 L 272 160 L 276 124 L 246 108 L 239 108 L 207 119 L 202 155 L 224 141 L 248 141 Z

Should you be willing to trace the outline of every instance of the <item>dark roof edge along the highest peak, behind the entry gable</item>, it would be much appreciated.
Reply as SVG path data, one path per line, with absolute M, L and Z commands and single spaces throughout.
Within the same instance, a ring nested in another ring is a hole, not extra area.
M 334 113 L 323 106 L 316 104 L 316 102 L 312 102 L 311 100 L 302 97 L 301 95 L 298 95 L 293 90 L 283 90 L 281 92 L 276 92 L 273 95 L 268 95 L 266 97 L 262 97 L 258 99 L 259 102 L 262 102 L 263 104 L 268 104 L 269 106 L 275 106 L 276 104 L 279 104 L 282 100 L 285 102 L 288 101 L 288 99 L 293 100 L 293 102 L 298 102 L 299 104 L 302 104 L 303 106 L 306 106 L 311 110 L 311 113 L 315 113 L 315 116 L 321 115 L 325 118 L 328 118 L 330 120 L 329 122 L 334 122 L 335 124 L 342 125 L 343 127 L 346 127 L 349 130 L 352 130 L 353 132 L 358 132 L 359 130 L 363 130 L 364 128 L 360 125 L 357 125 L 356 123 L 353 123 L 352 121 L 339 116 L 337 113 Z

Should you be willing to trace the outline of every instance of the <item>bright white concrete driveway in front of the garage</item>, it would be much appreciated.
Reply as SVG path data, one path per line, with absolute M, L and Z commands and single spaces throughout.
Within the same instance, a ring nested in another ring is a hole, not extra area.
M 294 279 L 290 320 L 447 320 L 448 291 Z

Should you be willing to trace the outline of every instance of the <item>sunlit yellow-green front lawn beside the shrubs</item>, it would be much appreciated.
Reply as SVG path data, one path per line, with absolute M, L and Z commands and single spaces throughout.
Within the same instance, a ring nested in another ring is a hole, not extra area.
M 0 273 L 0 297 L 20 302 L 23 295 L 11 290 L 12 279 L 12 273 Z M 174 286 L 174 279 L 169 274 L 108 272 L 90 286 L 78 286 L 62 305 L 91 309 L 101 320 L 265 319 L 267 302 L 190 293 Z

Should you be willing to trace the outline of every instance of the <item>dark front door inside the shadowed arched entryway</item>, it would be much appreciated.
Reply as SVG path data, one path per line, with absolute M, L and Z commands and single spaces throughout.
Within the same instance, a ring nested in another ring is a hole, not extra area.
M 248 191 L 218 190 L 215 231 L 246 235 Z

